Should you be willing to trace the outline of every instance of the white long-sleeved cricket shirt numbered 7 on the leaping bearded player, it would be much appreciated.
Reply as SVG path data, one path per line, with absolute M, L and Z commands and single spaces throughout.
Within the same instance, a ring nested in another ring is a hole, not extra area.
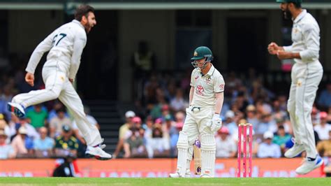
M 39 43 L 25 70 L 34 73 L 43 54 L 50 51 L 44 66 L 57 67 L 59 71 L 65 72 L 68 78 L 74 79 L 86 42 L 87 35 L 82 24 L 78 20 L 68 22 Z

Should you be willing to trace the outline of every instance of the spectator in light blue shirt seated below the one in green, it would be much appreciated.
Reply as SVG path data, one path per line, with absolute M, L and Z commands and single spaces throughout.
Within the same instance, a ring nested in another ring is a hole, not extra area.
M 51 157 L 54 148 L 54 139 L 47 136 L 47 128 L 39 129 L 40 138 L 34 139 L 36 157 Z

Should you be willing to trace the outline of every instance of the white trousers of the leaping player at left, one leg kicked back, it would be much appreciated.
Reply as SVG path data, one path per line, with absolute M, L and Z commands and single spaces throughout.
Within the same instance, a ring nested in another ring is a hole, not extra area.
M 24 94 L 17 94 L 13 97 L 13 102 L 28 107 L 59 98 L 73 114 L 78 129 L 80 129 L 87 145 L 94 146 L 102 143 L 100 132 L 87 120 L 82 100 L 68 80 L 66 73 L 59 71 L 57 66 L 44 66 L 43 81 L 45 83 L 44 90 L 34 90 Z

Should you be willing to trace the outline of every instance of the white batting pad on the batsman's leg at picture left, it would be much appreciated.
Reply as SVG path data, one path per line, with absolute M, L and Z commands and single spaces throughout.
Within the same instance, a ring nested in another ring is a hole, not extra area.
M 186 166 L 187 166 L 187 156 L 189 150 L 189 139 L 186 134 L 182 131 L 179 132 L 179 138 L 177 142 L 178 149 L 178 159 L 177 159 L 177 172 L 179 176 L 185 177 Z

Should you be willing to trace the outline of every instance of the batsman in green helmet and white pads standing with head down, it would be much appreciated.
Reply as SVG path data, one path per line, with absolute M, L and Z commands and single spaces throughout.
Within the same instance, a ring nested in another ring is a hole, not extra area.
M 196 48 L 192 64 L 196 68 L 191 74 L 189 108 L 177 142 L 177 170 L 170 178 L 190 177 L 192 145 L 200 135 L 201 178 L 213 178 L 216 143 L 214 132 L 221 128 L 224 80 L 212 65 L 212 51 L 205 46 Z

